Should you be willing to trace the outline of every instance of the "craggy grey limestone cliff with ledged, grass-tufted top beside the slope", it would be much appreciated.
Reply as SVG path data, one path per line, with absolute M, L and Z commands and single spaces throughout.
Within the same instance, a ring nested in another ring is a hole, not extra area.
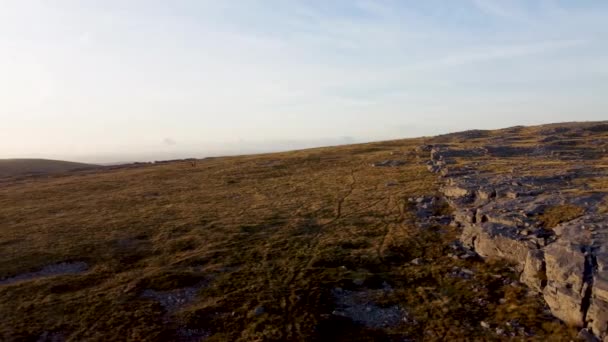
M 608 220 L 602 207 L 608 196 L 589 185 L 608 179 L 606 140 L 591 129 L 572 137 L 559 134 L 576 132 L 560 132 L 545 132 L 533 146 L 420 149 L 430 155 L 429 171 L 443 179 L 461 242 L 483 258 L 511 261 L 553 315 L 608 341 Z

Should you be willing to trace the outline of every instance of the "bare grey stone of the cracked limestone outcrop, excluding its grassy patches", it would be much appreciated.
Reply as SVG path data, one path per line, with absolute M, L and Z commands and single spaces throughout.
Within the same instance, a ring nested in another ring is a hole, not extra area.
M 554 316 L 608 341 L 608 220 L 598 210 L 607 194 L 574 191 L 580 189 L 572 185 L 589 173 L 608 174 L 573 167 L 544 176 L 519 176 L 481 172 L 473 162 L 454 167 L 452 161 L 535 153 L 554 158 L 543 146 L 440 146 L 427 151 L 428 169 L 442 177 L 441 191 L 454 209 L 453 224 L 462 228 L 461 243 L 482 258 L 512 262 L 521 272 L 520 281 L 542 295 Z M 583 155 L 577 153 L 573 158 Z M 564 205 L 582 208 L 583 215 L 556 227 L 539 220 L 548 208 Z

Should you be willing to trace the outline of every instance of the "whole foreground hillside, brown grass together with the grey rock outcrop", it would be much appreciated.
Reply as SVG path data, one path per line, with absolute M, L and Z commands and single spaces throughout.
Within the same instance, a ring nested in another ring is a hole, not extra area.
M 5 179 L 0 340 L 602 338 L 606 127 Z

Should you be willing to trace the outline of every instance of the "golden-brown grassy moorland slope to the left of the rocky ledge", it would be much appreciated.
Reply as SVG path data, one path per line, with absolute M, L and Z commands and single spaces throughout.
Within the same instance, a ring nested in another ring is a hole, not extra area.
M 506 321 L 533 331 L 527 340 L 572 339 L 510 265 L 454 258 L 456 228 L 418 228 L 409 199 L 440 185 L 414 152 L 424 143 L 4 183 L 0 279 L 88 268 L 0 283 L 0 340 L 487 340 Z M 382 160 L 404 164 L 371 166 Z M 340 293 L 403 317 L 354 321 L 336 313 Z

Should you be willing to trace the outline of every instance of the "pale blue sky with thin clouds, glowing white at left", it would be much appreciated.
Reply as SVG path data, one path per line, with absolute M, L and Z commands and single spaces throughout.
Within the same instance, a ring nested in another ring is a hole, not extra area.
M 608 119 L 603 0 L 0 0 L 0 158 Z

